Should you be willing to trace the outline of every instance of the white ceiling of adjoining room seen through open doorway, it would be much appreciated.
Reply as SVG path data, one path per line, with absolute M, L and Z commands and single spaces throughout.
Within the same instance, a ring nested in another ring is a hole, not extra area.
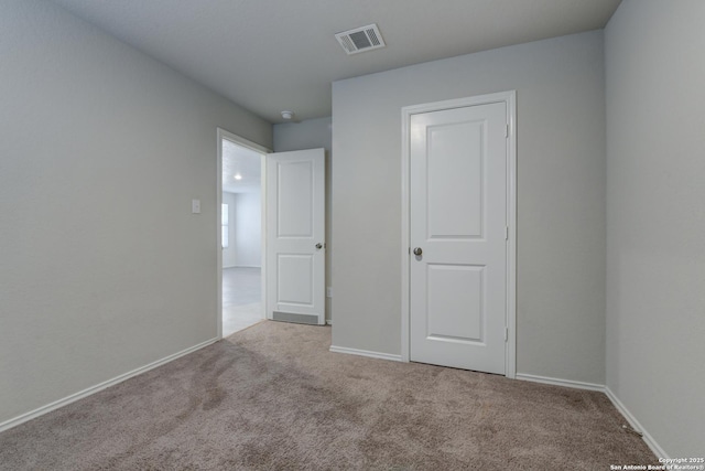
M 259 192 L 262 175 L 261 154 L 223 140 L 223 191 L 228 193 Z M 240 174 L 241 180 L 235 175 Z

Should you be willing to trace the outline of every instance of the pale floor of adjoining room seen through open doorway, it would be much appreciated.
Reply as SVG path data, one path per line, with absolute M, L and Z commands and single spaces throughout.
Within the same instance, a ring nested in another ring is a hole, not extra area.
M 252 267 L 223 269 L 223 336 L 261 321 L 261 270 Z

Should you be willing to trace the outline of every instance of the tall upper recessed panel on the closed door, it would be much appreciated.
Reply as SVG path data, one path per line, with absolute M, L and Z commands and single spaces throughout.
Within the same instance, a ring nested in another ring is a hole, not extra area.
M 427 128 L 429 238 L 482 236 L 484 124 Z M 458 205 L 462 212 L 449 211 Z

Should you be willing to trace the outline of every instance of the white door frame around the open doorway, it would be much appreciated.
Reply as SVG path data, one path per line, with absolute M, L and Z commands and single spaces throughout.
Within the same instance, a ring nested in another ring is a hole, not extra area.
M 217 339 L 223 339 L 223 232 L 220 229 L 221 226 L 221 215 L 220 207 L 223 205 L 223 140 L 229 140 L 230 142 L 235 142 L 238 146 L 242 146 L 261 154 L 260 157 L 260 205 L 262 210 L 262 233 L 261 237 L 261 251 L 262 251 L 262 268 L 260 274 L 260 285 L 261 285 L 261 303 L 263 312 L 267 312 L 267 154 L 271 153 L 272 150 L 265 148 L 264 146 L 260 146 L 257 142 L 252 142 L 248 139 L 245 139 L 238 135 L 235 135 L 230 131 L 227 131 L 223 128 L 217 128 L 217 149 L 218 149 L 218 159 L 217 159 L 217 170 L 216 170 L 216 249 L 218 250 L 217 257 L 217 280 L 218 288 L 216 290 L 217 297 L 217 312 L 218 312 L 218 323 L 217 323 Z M 264 318 L 263 318 L 264 319 Z

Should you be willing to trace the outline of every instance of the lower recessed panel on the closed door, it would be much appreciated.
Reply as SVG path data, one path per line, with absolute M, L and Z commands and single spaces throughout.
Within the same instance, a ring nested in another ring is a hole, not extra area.
M 484 267 L 427 266 L 426 338 L 453 342 L 482 342 L 485 323 Z

